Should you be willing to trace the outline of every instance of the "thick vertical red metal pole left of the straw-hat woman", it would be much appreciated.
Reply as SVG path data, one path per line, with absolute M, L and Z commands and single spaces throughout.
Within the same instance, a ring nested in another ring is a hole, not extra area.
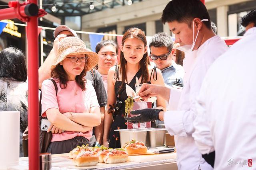
M 37 0 L 29 0 L 37 4 Z M 30 170 L 39 170 L 38 117 L 38 17 L 30 17 L 28 38 L 28 162 Z

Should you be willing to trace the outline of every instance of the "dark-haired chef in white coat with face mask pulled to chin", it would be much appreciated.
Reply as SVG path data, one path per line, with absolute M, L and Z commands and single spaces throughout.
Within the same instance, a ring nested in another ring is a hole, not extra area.
M 196 117 L 195 103 L 208 68 L 228 47 L 212 31 L 209 14 L 200 0 L 170 1 L 163 11 L 162 22 L 167 22 L 170 31 L 175 34 L 175 43 L 181 45 L 178 49 L 185 53 L 193 51 L 196 54 L 196 61 L 190 72 L 185 73 L 183 90 L 150 84 L 142 85 L 140 96 L 162 96 L 169 101 L 168 106 L 176 102 L 180 96 L 176 110 L 132 111 L 131 114 L 140 115 L 128 118 L 128 121 L 134 123 L 154 119 L 164 121 L 170 135 L 175 135 L 179 170 L 211 170 L 212 166 L 202 158 L 192 137 L 193 122 Z

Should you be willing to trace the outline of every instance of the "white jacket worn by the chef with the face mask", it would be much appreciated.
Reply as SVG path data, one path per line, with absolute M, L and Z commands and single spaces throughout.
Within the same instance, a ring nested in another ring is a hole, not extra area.
M 196 51 L 196 61 L 186 76 L 177 110 L 164 113 L 164 124 L 170 135 L 175 135 L 177 165 L 179 170 L 209 170 L 212 167 L 205 162 L 197 149 L 192 133 L 195 119 L 195 102 L 201 88 L 202 80 L 210 65 L 227 50 L 226 43 L 218 36 L 208 39 Z M 176 100 L 180 91 L 170 90 L 169 105 Z

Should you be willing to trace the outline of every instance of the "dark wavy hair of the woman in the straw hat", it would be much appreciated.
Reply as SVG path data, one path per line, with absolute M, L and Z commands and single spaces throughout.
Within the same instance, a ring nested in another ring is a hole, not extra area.
M 80 75 L 76 76 L 76 83 L 82 90 L 84 91 L 85 88 L 85 83 L 86 80 L 84 76 L 86 76 L 86 65 L 84 70 L 81 72 Z M 66 71 L 64 70 L 63 66 L 58 64 L 55 68 L 52 69 L 51 76 L 53 78 L 58 78 L 60 80 L 60 88 L 64 89 L 67 86 L 67 81 L 68 81 L 68 75 Z

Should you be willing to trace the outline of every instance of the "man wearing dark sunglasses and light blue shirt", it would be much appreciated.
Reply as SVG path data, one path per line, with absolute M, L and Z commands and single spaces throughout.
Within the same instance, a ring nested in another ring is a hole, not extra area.
M 172 60 L 172 37 L 166 33 L 158 33 L 150 39 L 150 58 L 159 68 L 164 77 L 164 83 L 172 86 L 173 82 L 179 80 L 182 84 L 184 69 Z

